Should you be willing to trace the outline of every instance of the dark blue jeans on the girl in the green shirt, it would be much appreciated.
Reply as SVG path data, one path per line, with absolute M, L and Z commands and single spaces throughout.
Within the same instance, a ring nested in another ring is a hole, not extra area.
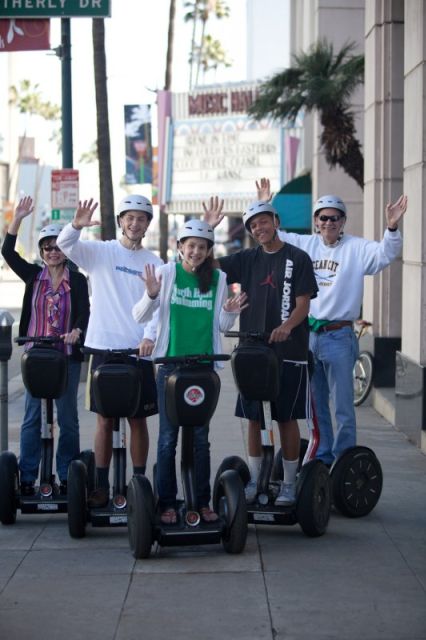
M 176 365 L 162 365 L 157 373 L 158 411 L 160 416 L 160 432 L 157 447 L 157 490 L 160 509 L 176 507 L 176 445 L 179 427 L 174 427 L 166 414 L 165 378 L 176 368 Z M 210 503 L 210 443 L 209 428 L 191 427 L 194 429 L 195 482 L 197 487 L 198 508 Z

